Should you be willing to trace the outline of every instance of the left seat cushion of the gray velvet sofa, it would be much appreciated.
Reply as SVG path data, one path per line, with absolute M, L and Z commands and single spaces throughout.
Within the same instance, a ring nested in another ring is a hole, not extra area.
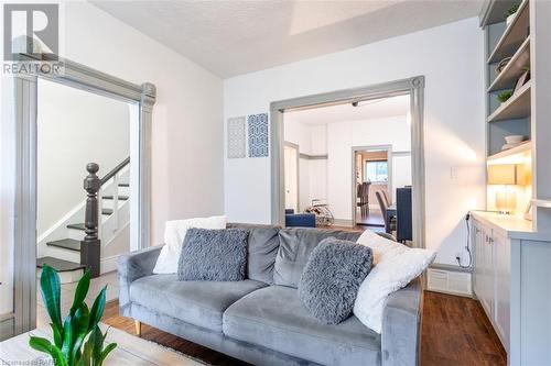
M 130 300 L 193 325 L 222 332 L 222 315 L 234 302 L 266 284 L 179 281 L 176 275 L 153 275 L 130 285 Z

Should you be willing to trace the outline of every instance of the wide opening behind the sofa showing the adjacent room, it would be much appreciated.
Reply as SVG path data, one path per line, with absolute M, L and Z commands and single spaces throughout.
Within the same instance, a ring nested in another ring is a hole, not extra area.
M 422 164 L 414 163 L 422 155 L 420 103 L 411 90 L 343 100 L 328 95 L 318 103 L 312 102 L 316 96 L 303 98 L 307 106 L 301 98 L 281 102 L 292 108 L 274 110 L 272 103 L 273 120 L 281 123 L 272 129 L 282 133 L 285 226 L 370 229 L 411 243 L 424 209 L 413 198 L 417 187 L 424 195 Z

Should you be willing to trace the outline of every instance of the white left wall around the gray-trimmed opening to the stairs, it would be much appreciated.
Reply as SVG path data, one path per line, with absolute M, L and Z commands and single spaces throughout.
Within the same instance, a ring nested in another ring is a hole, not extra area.
M 66 2 L 64 8 L 62 56 L 131 82 L 150 81 L 156 86 L 152 243 L 163 241 L 164 222 L 169 219 L 223 213 L 222 79 L 87 2 Z M 2 149 L 4 142 L 12 138 L 10 121 L 2 119 Z M 6 155 L 2 151 L 2 160 L 13 160 L 9 146 Z M 10 164 L 2 162 L 1 171 L 1 202 L 7 207 L 13 202 L 13 184 L 8 180 L 13 177 Z M 12 217 L 6 209 L 2 231 L 12 228 Z M 12 235 L 12 231 L 6 233 L 9 241 Z M 0 267 L 6 268 L 3 260 Z M 3 293 L 0 296 L 3 298 Z

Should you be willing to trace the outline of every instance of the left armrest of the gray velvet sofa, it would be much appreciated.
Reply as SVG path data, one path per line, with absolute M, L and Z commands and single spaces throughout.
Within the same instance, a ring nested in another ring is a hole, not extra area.
M 119 271 L 119 311 L 122 315 L 130 315 L 130 284 L 138 278 L 153 274 L 162 247 L 163 245 L 152 246 L 119 256 L 117 262 Z

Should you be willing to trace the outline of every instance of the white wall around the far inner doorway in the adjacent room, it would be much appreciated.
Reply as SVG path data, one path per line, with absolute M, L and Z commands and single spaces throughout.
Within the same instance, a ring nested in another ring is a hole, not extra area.
M 379 145 L 391 145 L 395 152 L 411 149 L 406 115 L 327 124 L 327 201 L 335 219 L 352 222 L 352 147 Z M 407 163 L 407 157 L 392 158 L 391 192 L 411 185 L 411 167 Z

